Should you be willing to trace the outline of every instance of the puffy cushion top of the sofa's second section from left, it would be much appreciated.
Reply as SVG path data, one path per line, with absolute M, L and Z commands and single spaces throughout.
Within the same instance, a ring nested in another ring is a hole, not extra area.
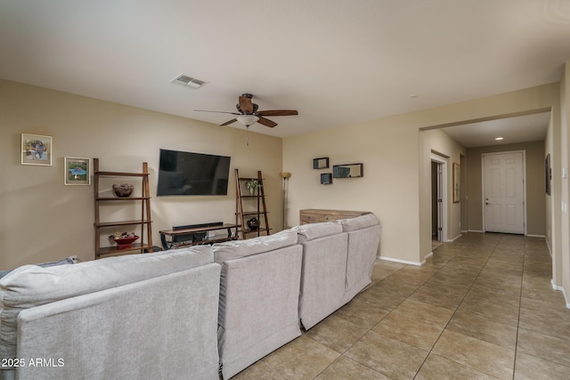
M 232 240 L 224 243 L 216 243 L 213 246 L 216 263 L 224 263 L 226 260 L 237 259 L 249 255 L 262 254 L 282 247 L 297 244 L 297 232 L 294 230 L 282 230 L 273 235 L 260 236 L 254 239 Z

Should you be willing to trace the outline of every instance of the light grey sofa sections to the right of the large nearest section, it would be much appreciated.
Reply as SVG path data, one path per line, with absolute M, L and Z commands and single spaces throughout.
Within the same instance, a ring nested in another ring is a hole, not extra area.
M 228 379 L 301 335 L 371 283 L 381 226 L 374 214 L 305 224 L 214 245 L 222 263 L 222 376 Z

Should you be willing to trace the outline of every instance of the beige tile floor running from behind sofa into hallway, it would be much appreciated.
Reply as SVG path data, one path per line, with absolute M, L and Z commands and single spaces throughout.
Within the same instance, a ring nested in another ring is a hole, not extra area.
M 244 379 L 568 379 L 570 310 L 544 239 L 469 233 L 373 284 Z

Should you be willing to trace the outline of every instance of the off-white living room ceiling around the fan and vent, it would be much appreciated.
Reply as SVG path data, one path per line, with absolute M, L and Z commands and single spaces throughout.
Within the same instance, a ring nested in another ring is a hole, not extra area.
M 281 137 L 556 82 L 568 59 L 568 0 L 0 0 L 2 78 L 215 124 L 194 109 L 253 93 L 298 109 L 250 127 Z

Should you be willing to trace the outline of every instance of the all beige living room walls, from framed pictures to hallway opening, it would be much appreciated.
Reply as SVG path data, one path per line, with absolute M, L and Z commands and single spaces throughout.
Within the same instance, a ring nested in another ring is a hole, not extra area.
M 421 263 L 431 252 L 429 171 L 425 168 L 432 150 L 437 149 L 420 137 L 420 129 L 550 109 L 552 122 L 544 145 L 545 153 L 552 155 L 553 194 L 545 202 L 545 233 L 553 255 L 553 284 L 568 293 L 570 237 L 567 214 L 563 226 L 560 212 L 562 199 L 567 202 L 569 198 L 560 175 L 562 167 L 570 166 L 568 64 L 565 70 L 562 85 L 541 85 L 283 141 L 250 133 L 249 147 L 245 146 L 245 132 L 236 128 L 0 81 L 4 137 L 0 140 L 0 269 L 66 255 L 83 260 L 93 257 L 93 187 L 63 185 L 64 157 L 98 157 L 106 169 L 126 171 L 138 171 L 146 160 L 154 193 L 159 148 L 224 154 L 232 157 L 232 169 L 239 167 L 244 174 L 262 170 L 268 180 L 274 231 L 281 228 L 279 172 L 291 172 L 289 225 L 298 223 L 302 208 L 369 210 L 384 225 L 379 255 Z M 563 129 L 565 139 L 561 141 Z M 53 166 L 20 165 L 20 133 L 53 136 Z M 325 171 L 312 166 L 313 158 L 320 157 L 330 157 L 331 165 L 362 162 L 364 177 L 321 185 L 319 174 Z M 157 242 L 158 230 L 173 224 L 232 222 L 233 186 L 227 197 L 155 197 L 152 211 Z

